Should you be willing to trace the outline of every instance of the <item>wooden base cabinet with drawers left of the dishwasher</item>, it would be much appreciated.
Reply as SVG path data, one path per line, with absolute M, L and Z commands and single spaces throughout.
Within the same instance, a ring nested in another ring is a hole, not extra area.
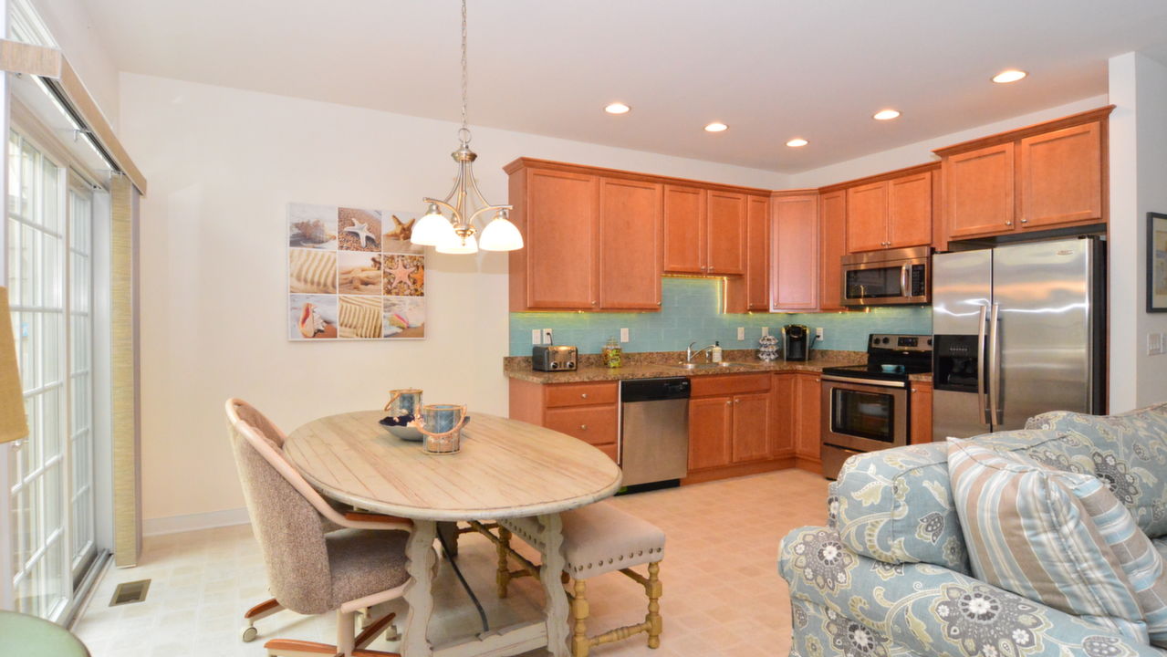
M 510 379 L 510 417 L 575 436 L 619 463 L 619 385 Z

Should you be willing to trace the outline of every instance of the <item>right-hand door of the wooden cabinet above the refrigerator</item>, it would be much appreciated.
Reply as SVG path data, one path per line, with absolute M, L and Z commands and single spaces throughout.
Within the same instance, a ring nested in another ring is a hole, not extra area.
M 1018 151 L 1020 226 L 1103 218 L 1102 124 L 1027 137 Z

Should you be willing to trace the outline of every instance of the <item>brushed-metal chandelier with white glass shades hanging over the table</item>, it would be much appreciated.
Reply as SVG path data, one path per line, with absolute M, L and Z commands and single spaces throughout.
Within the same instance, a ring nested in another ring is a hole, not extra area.
M 478 191 L 474 180 L 474 160 L 478 156 L 470 151 L 470 130 L 466 123 L 467 83 L 466 67 L 466 0 L 462 0 L 462 127 L 457 131 L 457 151 L 450 158 L 457 162 L 457 179 L 446 198 L 424 198 L 428 203 L 425 216 L 413 226 L 411 242 L 434 246 L 439 253 L 476 253 L 483 251 L 515 251 L 523 247 L 523 236 L 510 222 L 510 205 L 491 205 Z M 471 205 L 473 203 L 473 205 Z M 443 214 L 449 212 L 449 217 Z M 474 222 L 489 212 L 494 218 L 475 237 Z

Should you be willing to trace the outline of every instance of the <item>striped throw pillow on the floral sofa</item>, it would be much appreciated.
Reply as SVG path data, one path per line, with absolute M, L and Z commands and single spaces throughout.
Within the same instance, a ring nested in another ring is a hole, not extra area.
M 1096 477 L 951 439 L 949 476 L 977 579 L 1149 643 L 1134 586 L 1107 543 L 1125 532 L 1106 524 L 1104 534 L 1083 501 L 1110 510 L 1099 495 L 1113 495 Z

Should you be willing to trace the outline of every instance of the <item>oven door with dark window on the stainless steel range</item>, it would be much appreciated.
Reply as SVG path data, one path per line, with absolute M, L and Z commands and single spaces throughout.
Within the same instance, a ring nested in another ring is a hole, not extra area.
M 908 387 L 902 382 L 823 377 L 823 443 L 858 452 L 908 445 Z

